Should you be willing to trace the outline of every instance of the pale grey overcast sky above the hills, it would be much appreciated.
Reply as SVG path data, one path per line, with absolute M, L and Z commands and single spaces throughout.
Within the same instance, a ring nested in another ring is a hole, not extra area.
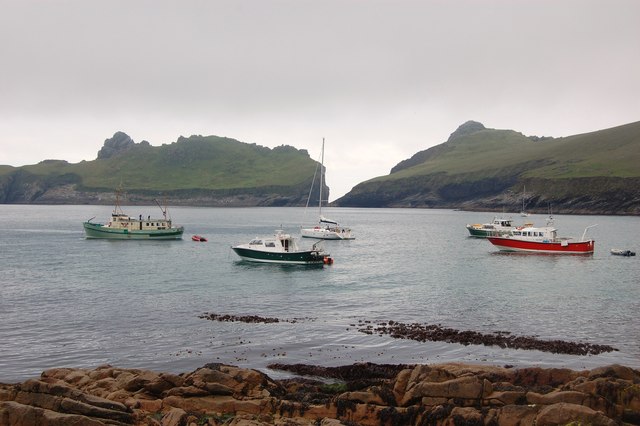
M 0 164 L 116 131 L 307 149 L 331 200 L 467 120 L 640 120 L 638 0 L 0 0 Z

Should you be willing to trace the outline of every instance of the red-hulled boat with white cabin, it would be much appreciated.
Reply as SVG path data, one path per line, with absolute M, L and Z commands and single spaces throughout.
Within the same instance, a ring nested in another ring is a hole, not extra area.
M 500 236 L 489 236 L 487 239 L 501 251 L 558 253 L 558 254 L 593 254 L 596 242 L 585 239 L 588 226 L 582 238 L 558 237 L 557 229 L 548 222 L 547 226 L 536 228 L 533 226 L 517 227 L 509 233 Z

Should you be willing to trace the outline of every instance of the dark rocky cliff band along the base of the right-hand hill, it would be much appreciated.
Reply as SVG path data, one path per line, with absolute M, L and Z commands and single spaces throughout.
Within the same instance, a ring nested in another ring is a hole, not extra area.
M 449 182 L 443 176 L 406 180 L 406 190 L 377 183 L 356 187 L 336 201 L 342 207 L 417 207 L 481 211 L 519 211 L 526 187 L 526 210 L 546 214 L 640 214 L 640 178 L 518 179 L 505 176 Z M 418 187 L 419 190 L 414 188 Z

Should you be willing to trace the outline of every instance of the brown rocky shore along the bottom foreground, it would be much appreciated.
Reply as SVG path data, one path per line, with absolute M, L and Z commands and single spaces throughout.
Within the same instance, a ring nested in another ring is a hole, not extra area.
M 463 364 L 57 368 L 0 384 L 0 425 L 640 424 L 640 371 Z

